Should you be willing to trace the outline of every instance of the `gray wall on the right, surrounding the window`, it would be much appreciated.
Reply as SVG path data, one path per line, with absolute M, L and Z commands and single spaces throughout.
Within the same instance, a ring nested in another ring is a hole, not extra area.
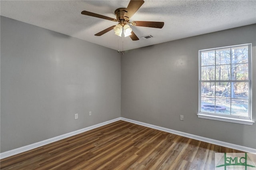
M 170 33 L 171 34 L 171 33 Z M 256 148 L 256 123 L 200 119 L 198 50 L 252 43 L 252 113 L 256 119 L 256 24 L 126 51 L 121 58 L 121 116 Z M 184 115 L 184 121 L 180 121 Z

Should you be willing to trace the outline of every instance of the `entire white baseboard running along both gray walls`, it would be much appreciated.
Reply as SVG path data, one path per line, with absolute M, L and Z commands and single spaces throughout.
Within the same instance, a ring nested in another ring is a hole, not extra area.
M 80 134 L 82 132 L 92 130 L 94 128 L 102 127 L 104 125 L 108 125 L 110 123 L 113 123 L 113 122 L 116 122 L 116 121 L 119 121 L 119 120 L 134 123 L 134 124 L 137 124 L 137 125 L 142 125 L 144 127 L 149 127 L 149 128 L 154 128 L 154 129 L 157 129 L 157 130 L 162 130 L 164 132 L 169 132 L 169 133 L 177 134 L 177 135 L 180 135 L 180 136 L 184 136 L 184 137 L 188 137 L 188 138 L 192 138 L 192 139 L 196 139 L 196 140 L 201 140 L 203 142 L 208 142 L 208 143 L 212 143 L 212 144 L 216 144 L 216 145 L 220 145 L 220 146 L 224 146 L 224 147 L 228 147 L 228 148 L 232 148 L 232 149 L 236 149 L 236 150 L 241 150 L 241 151 L 248 152 L 248 153 L 256 153 L 256 149 L 254 149 L 254 148 L 248 148 L 246 146 L 240 146 L 240 145 L 237 145 L 237 144 L 222 142 L 222 141 L 214 140 L 214 139 L 211 139 L 211 138 L 205 138 L 205 137 L 197 136 L 197 135 L 194 135 L 194 134 L 180 132 L 180 131 L 177 131 L 177 130 L 172 130 L 172 129 L 168 129 L 168 128 L 164 128 L 164 127 L 150 125 L 148 123 L 143 123 L 143 122 L 134 121 L 134 120 L 131 120 L 131 119 L 126 119 L 126 118 L 123 118 L 123 117 L 119 117 L 119 118 L 116 118 L 116 119 L 112 119 L 110 121 L 99 123 L 97 125 L 82 128 L 82 129 L 76 130 L 74 132 L 69 132 L 69 133 L 66 133 L 66 134 L 62 134 L 62 135 L 56 136 L 54 138 L 46 139 L 46 140 L 43 140 L 43 141 L 40 141 L 40 142 L 36 142 L 36 143 L 33 143 L 33 144 L 22 146 L 20 148 L 16 148 L 16 149 L 13 149 L 13 150 L 8 150 L 6 152 L 2 152 L 2 153 L 0 153 L 0 159 L 7 158 L 9 156 L 13 156 L 13 155 L 16 155 L 16 154 L 20 154 L 22 152 L 26 152 L 28 150 L 38 148 L 40 146 L 44 146 L 46 144 L 50 144 L 52 142 L 56 142 L 56 141 L 62 140 L 64 138 L 68 138 L 70 136 L 74 136 L 76 134 Z

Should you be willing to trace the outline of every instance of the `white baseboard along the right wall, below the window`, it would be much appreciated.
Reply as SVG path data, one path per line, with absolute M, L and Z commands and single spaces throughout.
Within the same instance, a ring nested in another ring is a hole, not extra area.
M 154 128 L 154 129 L 157 129 L 157 130 L 162 130 L 164 132 L 177 134 L 177 135 L 180 135 L 180 136 L 184 136 L 184 137 L 188 137 L 188 138 L 192 138 L 192 139 L 196 139 L 196 140 L 201 140 L 203 142 L 208 142 L 208 143 L 211 143 L 211 144 L 224 146 L 224 147 L 227 147 L 227 148 L 232 148 L 232 149 L 236 149 L 236 150 L 240 150 L 240 151 L 244 151 L 244 152 L 248 152 L 248 153 L 256 153 L 256 149 L 249 148 L 249 147 L 246 147 L 246 146 L 240 146 L 240 145 L 237 145 L 237 144 L 222 142 L 222 141 L 219 141 L 219 140 L 215 140 L 215 139 L 211 139 L 211 138 L 205 138 L 205 137 L 202 137 L 202 136 L 197 136 L 197 135 L 194 135 L 194 134 L 180 132 L 180 131 L 177 131 L 177 130 L 172 130 L 172 129 L 168 129 L 168 128 L 164 128 L 164 127 L 158 127 L 158 126 L 155 126 L 155 125 L 150 125 L 148 123 L 143 123 L 143 122 L 134 121 L 134 120 L 131 120 L 131 119 L 126 119 L 126 118 L 123 118 L 123 117 L 121 117 L 121 120 L 130 122 L 130 123 L 134 123 L 134 124 L 137 124 L 137 125 L 142 125 L 144 127 L 150 127 L 150 128 Z

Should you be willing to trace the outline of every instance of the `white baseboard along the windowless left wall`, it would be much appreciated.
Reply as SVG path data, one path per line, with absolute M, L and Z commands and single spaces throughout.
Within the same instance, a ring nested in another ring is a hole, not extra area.
M 13 149 L 13 150 L 8 150 L 6 152 L 0 153 L 0 159 L 7 158 L 9 156 L 13 156 L 13 155 L 16 155 L 16 154 L 20 154 L 22 152 L 26 152 L 28 150 L 31 150 L 31 149 L 34 149 L 34 148 L 38 148 L 40 146 L 44 146 L 46 144 L 50 144 L 52 142 L 56 142 L 58 140 L 62 140 L 64 138 L 68 138 L 70 136 L 74 136 L 76 134 L 80 134 L 82 132 L 86 132 L 86 131 L 92 130 L 94 128 L 102 127 L 104 125 L 108 125 L 110 123 L 113 123 L 113 122 L 116 122 L 116 121 L 120 121 L 120 120 L 121 120 L 121 118 L 119 117 L 119 118 L 116 118 L 116 119 L 112 119 L 110 121 L 99 123 L 97 125 L 93 125 L 93 126 L 90 126 L 90 127 L 82 128 L 82 129 L 79 129 L 79 130 L 76 130 L 76 131 L 73 131 L 73 132 L 62 134 L 60 136 L 56 136 L 56 137 L 53 137 L 53 138 L 50 138 L 50 139 L 46 139 L 46 140 L 43 140 L 43 141 L 40 141 L 40 142 L 36 142 L 36 143 L 33 143 L 33 144 L 22 146 L 20 148 L 16 148 L 16 149 Z

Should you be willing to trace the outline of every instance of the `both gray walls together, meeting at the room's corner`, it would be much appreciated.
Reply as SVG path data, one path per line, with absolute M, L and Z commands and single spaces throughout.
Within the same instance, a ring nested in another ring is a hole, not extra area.
M 120 61 L 115 50 L 1 16 L 0 152 L 115 119 L 120 110 L 128 119 L 256 148 L 256 123 L 196 115 L 198 50 L 252 43 L 256 75 L 255 33 L 256 25 L 205 34 L 126 51 Z

